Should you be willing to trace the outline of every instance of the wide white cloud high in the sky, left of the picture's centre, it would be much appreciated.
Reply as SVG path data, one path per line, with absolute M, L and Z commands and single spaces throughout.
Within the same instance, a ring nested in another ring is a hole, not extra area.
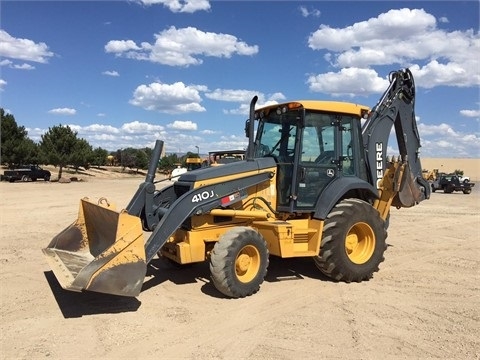
M 203 32 L 194 27 L 177 29 L 174 26 L 155 34 L 153 44 L 132 40 L 112 40 L 105 45 L 107 53 L 135 60 L 145 60 L 170 66 L 199 65 L 200 56 L 230 58 L 255 55 L 258 46 L 249 46 L 229 34 Z

